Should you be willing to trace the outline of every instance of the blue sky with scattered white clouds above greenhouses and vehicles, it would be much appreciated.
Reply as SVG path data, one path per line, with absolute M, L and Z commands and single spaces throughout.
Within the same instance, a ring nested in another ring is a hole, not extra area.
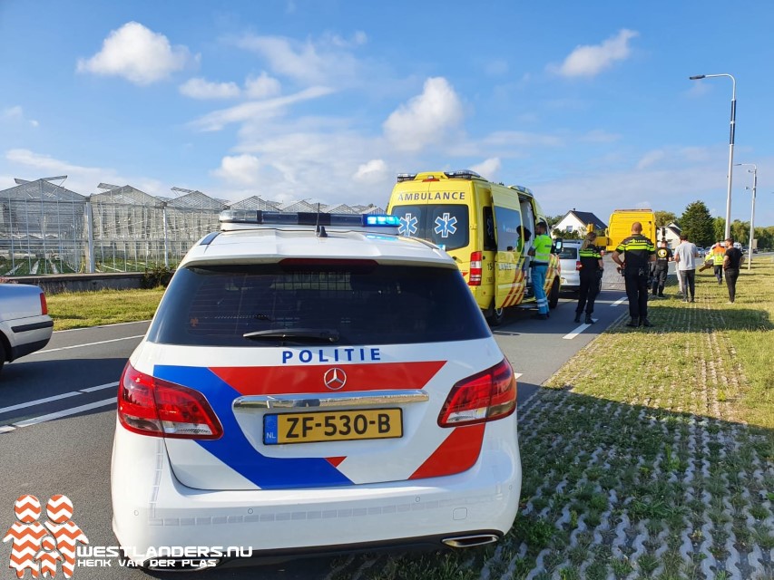
M 544 210 L 774 225 L 774 3 L 0 0 L 0 189 L 67 175 L 172 196 L 386 207 L 475 169 Z M 733 171 L 732 219 L 752 175 Z

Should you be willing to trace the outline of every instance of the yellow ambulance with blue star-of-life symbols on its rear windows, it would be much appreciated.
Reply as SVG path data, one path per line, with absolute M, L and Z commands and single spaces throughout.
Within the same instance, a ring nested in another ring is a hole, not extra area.
M 501 324 L 505 308 L 535 303 L 527 252 L 535 222 L 545 216 L 529 189 L 470 170 L 402 173 L 387 213 L 400 218 L 403 236 L 426 239 L 455 259 L 489 324 Z M 558 274 L 552 254 L 545 277 L 550 308 L 559 302 Z

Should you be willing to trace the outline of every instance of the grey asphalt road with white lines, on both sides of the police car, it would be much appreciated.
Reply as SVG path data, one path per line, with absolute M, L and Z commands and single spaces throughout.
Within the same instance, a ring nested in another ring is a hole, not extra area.
M 593 325 L 573 323 L 575 296 L 563 295 L 548 320 L 515 310 L 495 329 L 497 342 L 519 373 L 519 404 L 564 362 L 613 321 L 626 314 L 625 296 L 605 291 L 597 300 Z M 45 503 L 55 494 L 73 500 L 75 521 L 91 546 L 114 546 L 111 529 L 110 461 L 117 382 L 148 323 L 118 324 L 54 333 L 39 353 L 5 365 L 0 377 L 0 522 L 15 521 L 15 499 L 33 494 Z M 15 575 L 0 545 L 0 579 Z M 261 566 L 262 578 L 323 578 L 331 558 Z M 74 578 L 142 578 L 139 570 L 78 567 Z M 165 575 L 154 574 L 158 577 Z M 174 578 L 252 578 L 256 570 L 223 568 L 214 574 L 174 573 Z M 167 575 L 169 576 L 169 574 Z

